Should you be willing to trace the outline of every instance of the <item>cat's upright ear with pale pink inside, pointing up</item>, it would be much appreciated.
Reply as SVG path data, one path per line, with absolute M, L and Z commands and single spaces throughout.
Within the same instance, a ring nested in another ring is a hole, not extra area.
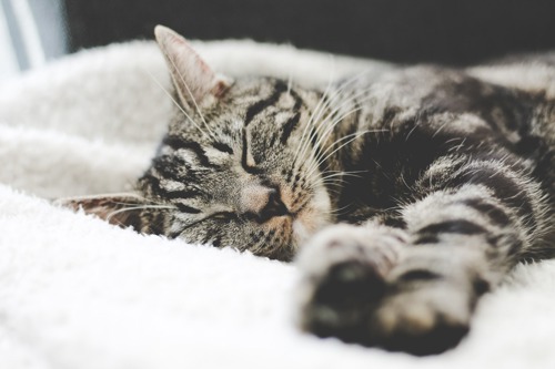
M 216 75 L 183 37 L 163 25 L 157 25 L 154 34 L 180 99 L 189 107 L 228 90 L 229 80 Z

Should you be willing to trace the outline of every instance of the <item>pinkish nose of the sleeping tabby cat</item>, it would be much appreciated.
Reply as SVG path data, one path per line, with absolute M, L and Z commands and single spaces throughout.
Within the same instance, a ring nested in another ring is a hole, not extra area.
M 241 209 L 259 222 L 266 222 L 274 216 L 289 214 L 276 188 L 250 185 L 241 194 Z

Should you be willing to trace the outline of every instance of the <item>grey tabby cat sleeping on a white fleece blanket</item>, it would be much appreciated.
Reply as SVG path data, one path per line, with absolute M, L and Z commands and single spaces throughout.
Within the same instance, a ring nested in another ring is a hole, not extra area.
M 296 258 L 302 329 L 415 355 L 455 346 L 484 293 L 518 262 L 553 255 L 546 91 L 438 66 L 322 89 L 231 80 L 173 31 L 155 35 L 174 85 L 168 134 L 134 195 L 73 206 Z

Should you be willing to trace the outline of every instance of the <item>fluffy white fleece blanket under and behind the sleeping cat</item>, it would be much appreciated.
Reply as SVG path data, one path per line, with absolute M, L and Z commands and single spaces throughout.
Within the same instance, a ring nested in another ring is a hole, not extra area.
M 386 64 L 196 43 L 214 69 L 325 82 Z M 294 265 L 143 236 L 44 198 L 122 192 L 171 102 L 154 44 L 83 51 L 0 89 L 0 368 L 547 368 L 555 263 L 519 266 L 454 350 L 415 358 L 302 334 Z

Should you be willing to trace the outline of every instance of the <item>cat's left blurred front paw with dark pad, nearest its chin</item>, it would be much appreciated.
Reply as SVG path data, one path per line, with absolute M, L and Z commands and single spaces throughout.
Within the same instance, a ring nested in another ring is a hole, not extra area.
M 396 265 L 405 235 L 395 229 L 332 226 L 302 250 L 297 264 L 299 324 L 321 337 L 366 342 L 367 321 L 386 291 L 386 276 Z

